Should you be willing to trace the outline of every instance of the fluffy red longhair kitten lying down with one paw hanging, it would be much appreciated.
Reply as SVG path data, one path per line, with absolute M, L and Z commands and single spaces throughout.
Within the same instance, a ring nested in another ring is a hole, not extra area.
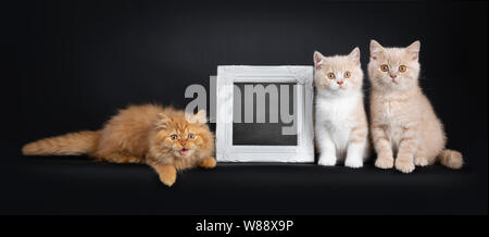
M 98 161 L 145 163 L 172 186 L 176 171 L 195 166 L 211 169 L 214 135 L 206 125 L 205 111 L 188 115 L 154 104 L 121 110 L 97 132 L 71 133 L 25 145 L 25 155 L 88 154 Z

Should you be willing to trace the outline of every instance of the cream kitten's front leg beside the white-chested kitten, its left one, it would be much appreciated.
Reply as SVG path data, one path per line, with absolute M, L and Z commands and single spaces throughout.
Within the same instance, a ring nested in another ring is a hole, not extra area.
M 375 161 L 375 166 L 379 169 L 393 167 L 392 146 L 389 139 L 387 138 L 384 126 L 379 124 L 373 124 L 371 133 L 375 151 L 377 152 L 377 160 Z

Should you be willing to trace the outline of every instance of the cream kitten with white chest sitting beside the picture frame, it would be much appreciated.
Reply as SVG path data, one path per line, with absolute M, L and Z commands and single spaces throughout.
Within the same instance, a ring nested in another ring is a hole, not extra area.
M 360 50 L 335 57 L 314 52 L 314 66 L 318 164 L 344 161 L 346 166 L 361 167 L 368 155 L 368 124 L 363 107 Z

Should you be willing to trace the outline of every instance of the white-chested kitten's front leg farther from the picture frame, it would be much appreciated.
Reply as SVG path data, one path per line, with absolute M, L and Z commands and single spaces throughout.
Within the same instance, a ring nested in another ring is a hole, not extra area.
M 362 167 L 365 157 L 365 147 L 367 142 L 368 128 L 366 125 L 356 126 L 351 129 L 350 139 L 347 148 L 347 159 L 344 166 Z

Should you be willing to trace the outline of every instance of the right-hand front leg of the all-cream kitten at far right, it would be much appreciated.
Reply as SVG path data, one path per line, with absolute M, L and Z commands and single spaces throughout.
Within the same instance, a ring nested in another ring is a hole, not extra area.
M 414 154 L 418 145 L 417 129 L 415 127 L 405 128 L 399 144 L 399 152 L 396 158 L 396 169 L 403 173 L 414 171 Z

